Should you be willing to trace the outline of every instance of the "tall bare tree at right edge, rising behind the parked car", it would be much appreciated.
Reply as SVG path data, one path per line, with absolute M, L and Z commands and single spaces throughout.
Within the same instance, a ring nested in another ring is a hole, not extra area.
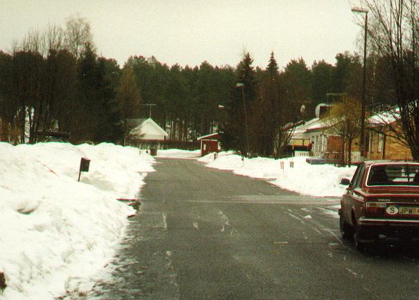
M 364 0 L 370 10 L 371 47 L 391 65 L 399 109 L 400 140 L 414 160 L 419 159 L 419 2 L 417 0 Z M 397 128 L 393 128 L 397 132 Z

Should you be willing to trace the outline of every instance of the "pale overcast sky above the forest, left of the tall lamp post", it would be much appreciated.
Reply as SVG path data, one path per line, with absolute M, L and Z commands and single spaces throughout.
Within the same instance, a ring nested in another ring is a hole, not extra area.
M 361 29 L 348 0 L 0 0 L 0 49 L 77 13 L 92 25 L 94 43 L 122 66 L 129 56 L 168 65 L 235 66 L 243 49 L 266 67 L 271 51 L 281 67 L 307 65 L 357 51 Z

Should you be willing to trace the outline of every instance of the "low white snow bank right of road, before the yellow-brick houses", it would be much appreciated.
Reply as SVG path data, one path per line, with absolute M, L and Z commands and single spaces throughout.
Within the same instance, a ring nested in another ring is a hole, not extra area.
M 234 174 L 253 178 L 272 179 L 274 185 L 316 197 L 340 197 L 345 192 L 341 178 L 352 178 L 356 167 L 334 167 L 333 165 L 310 165 L 304 157 L 274 160 L 273 158 L 244 158 L 231 152 L 221 152 L 214 160 L 209 154 L 199 161 L 207 167 L 229 169 Z M 290 167 L 293 161 L 294 167 Z M 284 170 L 281 169 L 284 163 Z

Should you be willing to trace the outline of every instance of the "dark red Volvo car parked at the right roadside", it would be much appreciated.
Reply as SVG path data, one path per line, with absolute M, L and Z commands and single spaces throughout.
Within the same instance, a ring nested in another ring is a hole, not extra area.
M 366 161 L 341 199 L 343 238 L 357 249 L 379 238 L 419 238 L 419 163 Z

